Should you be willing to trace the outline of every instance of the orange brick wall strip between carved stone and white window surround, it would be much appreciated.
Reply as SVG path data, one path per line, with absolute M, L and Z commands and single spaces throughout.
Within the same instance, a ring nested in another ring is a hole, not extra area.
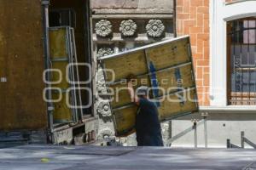
M 200 105 L 209 105 L 209 0 L 177 0 L 177 36 L 189 35 Z

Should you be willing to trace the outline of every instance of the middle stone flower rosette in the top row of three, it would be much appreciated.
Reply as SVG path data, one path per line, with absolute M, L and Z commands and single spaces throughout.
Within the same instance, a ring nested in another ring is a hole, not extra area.
M 123 20 L 120 24 L 119 31 L 124 36 L 133 36 L 137 30 L 137 24 L 133 20 Z

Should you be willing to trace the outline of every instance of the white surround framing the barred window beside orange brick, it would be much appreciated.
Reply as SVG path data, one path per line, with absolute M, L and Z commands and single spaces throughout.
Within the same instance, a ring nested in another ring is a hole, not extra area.
M 227 82 L 227 21 L 256 16 L 255 1 L 225 4 L 210 0 L 210 91 L 211 107 L 237 108 L 228 105 Z M 241 105 L 244 111 L 254 110 L 255 105 Z

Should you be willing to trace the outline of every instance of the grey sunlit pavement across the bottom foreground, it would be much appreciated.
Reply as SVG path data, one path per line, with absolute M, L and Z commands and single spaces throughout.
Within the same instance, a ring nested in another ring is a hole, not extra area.
M 25 145 L 0 149 L 4 170 L 256 169 L 256 150 Z M 254 167 L 254 168 L 253 168 Z

